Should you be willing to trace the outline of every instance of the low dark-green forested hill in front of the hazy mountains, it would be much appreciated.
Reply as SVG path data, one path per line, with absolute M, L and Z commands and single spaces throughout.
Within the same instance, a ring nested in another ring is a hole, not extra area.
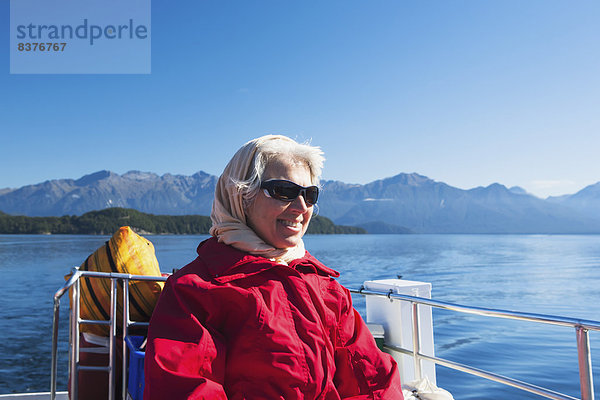
M 140 234 L 204 235 L 211 227 L 203 215 L 153 215 L 130 208 L 107 208 L 81 216 L 27 217 L 0 211 L 0 234 L 111 235 L 121 226 Z M 354 226 L 335 225 L 329 218 L 314 216 L 308 234 L 364 234 Z

